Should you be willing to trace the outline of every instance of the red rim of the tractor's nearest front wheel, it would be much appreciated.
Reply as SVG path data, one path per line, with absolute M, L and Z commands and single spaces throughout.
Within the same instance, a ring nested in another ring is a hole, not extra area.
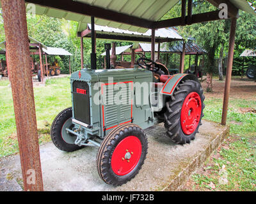
M 136 136 L 127 136 L 116 146 L 111 157 L 111 168 L 116 175 L 127 175 L 138 164 L 140 157 L 140 140 Z

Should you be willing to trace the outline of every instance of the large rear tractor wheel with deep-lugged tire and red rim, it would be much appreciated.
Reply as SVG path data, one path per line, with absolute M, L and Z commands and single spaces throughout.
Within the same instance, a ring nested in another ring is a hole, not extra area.
M 185 144 L 195 139 L 204 117 L 204 99 L 199 82 L 185 80 L 177 86 L 164 113 L 164 126 L 173 142 Z

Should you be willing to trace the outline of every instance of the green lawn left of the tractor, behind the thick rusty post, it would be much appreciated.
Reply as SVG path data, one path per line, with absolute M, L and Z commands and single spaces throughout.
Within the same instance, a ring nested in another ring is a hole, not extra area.
M 0 157 L 19 151 L 13 110 L 12 89 L 8 80 L 0 81 Z M 45 86 L 34 87 L 39 142 L 50 141 L 54 117 L 71 106 L 70 80 L 50 78 Z

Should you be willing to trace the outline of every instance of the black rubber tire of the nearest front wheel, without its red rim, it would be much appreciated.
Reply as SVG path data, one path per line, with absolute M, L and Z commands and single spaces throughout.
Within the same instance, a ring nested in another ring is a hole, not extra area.
M 114 173 L 111 168 L 111 156 L 115 150 L 115 147 L 124 140 L 127 136 L 136 136 L 141 142 L 141 157 L 136 167 L 127 175 L 119 176 Z M 148 149 L 147 136 L 143 129 L 136 124 L 123 124 L 113 129 L 107 136 L 105 136 L 102 144 L 100 145 L 97 154 L 97 169 L 100 178 L 113 186 L 121 186 L 129 180 L 133 179 L 136 174 L 140 171 L 143 165 Z

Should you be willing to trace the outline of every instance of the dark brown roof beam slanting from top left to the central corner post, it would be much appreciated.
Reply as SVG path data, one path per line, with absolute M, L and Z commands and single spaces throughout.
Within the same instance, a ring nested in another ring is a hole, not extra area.
M 86 3 L 80 3 L 72 0 L 26 0 L 28 3 L 38 4 L 48 8 L 56 8 L 59 10 L 71 11 L 82 15 L 93 16 L 123 24 L 134 25 L 138 27 L 145 27 L 150 29 L 154 21 L 147 20 L 139 17 L 134 17 L 124 13 L 107 10 L 98 6 L 92 6 Z

